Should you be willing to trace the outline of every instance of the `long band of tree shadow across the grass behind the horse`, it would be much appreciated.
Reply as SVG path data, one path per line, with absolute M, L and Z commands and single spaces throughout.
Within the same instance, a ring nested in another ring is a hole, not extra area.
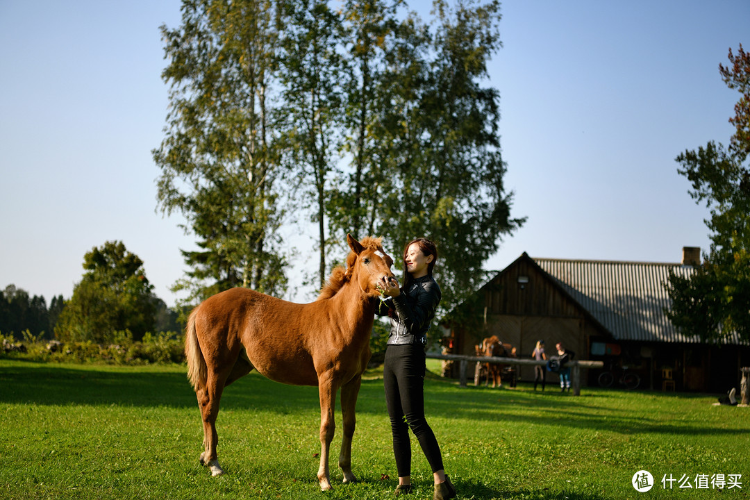
M 2 362 L 0 403 L 92 406 L 172 406 L 195 408 L 193 389 L 179 367 L 71 367 L 71 365 Z M 569 394 L 535 394 L 529 391 L 490 391 L 458 388 L 452 382 L 428 380 L 425 409 L 428 418 L 465 418 L 473 421 L 507 421 L 557 425 L 571 429 L 610 432 L 666 433 L 673 435 L 741 436 L 748 426 L 733 428 L 710 423 L 667 421 L 648 413 L 635 416 L 632 409 L 607 406 L 608 397 L 572 397 Z M 284 385 L 251 373 L 229 385 L 221 408 L 255 409 L 287 415 L 319 412 L 315 387 Z M 383 382 L 362 382 L 357 412 L 386 415 Z

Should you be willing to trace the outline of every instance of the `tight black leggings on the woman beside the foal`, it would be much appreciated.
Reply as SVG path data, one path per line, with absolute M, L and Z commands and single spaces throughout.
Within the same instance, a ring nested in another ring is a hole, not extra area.
M 443 469 L 435 434 L 425 420 L 425 350 L 421 345 L 388 346 L 383 363 L 383 385 L 393 432 L 393 454 L 398 477 L 412 475 L 411 428 L 432 472 Z

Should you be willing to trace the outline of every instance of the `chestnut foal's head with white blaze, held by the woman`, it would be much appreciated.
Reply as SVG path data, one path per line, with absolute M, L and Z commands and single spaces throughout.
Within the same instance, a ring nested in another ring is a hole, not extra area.
M 395 278 L 391 271 L 393 259 L 383 251 L 380 238 L 363 238 L 360 243 L 347 235 L 347 243 L 352 249 L 347 257 L 347 274 L 357 280 L 365 295 L 380 295 L 378 285 L 383 278 Z

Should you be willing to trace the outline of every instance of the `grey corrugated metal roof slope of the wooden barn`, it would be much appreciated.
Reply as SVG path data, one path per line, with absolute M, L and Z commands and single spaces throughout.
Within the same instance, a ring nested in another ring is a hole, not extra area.
M 669 271 L 690 277 L 681 264 L 532 258 L 618 340 L 697 343 L 680 334 L 664 314 L 671 301 Z

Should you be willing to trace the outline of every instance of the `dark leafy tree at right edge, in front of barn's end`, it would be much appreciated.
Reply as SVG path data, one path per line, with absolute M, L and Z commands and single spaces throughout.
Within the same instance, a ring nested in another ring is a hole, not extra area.
M 730 147 L 709 142 L 676 157 L 677 169 L 691 181 L 690 196 L 710 208 L 706 220 L 709 252 L 695 274 L 670 276 L 670 320 L 689 336 L 723 340 L 738 335 L 750 340 L 750 52 L 729 49 L 730 66 L 719 64 L 729 88 L 739 91 L 730 123 L 736 133 Z

